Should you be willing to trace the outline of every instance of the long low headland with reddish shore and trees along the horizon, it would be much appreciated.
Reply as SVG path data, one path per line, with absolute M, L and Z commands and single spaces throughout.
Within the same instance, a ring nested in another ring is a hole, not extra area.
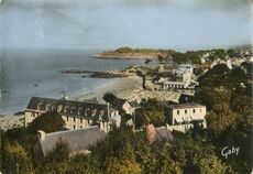
M 212 50 L 199 50 L 187 51 L 185 53 L 176 52 L 174 50 L 155 50 L 155 48 L 131 48 L 120 47 L 114 51 L 107 51 L 94 55 L 96 58 L 105 59 L 125 59 L 125 58 L 140 58 L 140 59 L 158 59 L 160 62 L 167 62 L 168 58 L 173 58 L 174 63 L 180 64 L 185 62 L 191 62 L 194 64 L 201 64 L 201 58 L 208 58 L 209 61 L 224 59 L 226 56 L 238 57 L 241 55 L 241 50 L 238 48 L 212 48 Z

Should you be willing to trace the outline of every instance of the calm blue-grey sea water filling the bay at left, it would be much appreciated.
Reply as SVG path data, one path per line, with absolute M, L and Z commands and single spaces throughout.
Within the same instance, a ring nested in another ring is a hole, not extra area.
M 98 59 L 102 50 L 2 50 L 0 54 L 0 115 L 25 109 L 33 96 L 63 97 L 88 91 L 113 79 L 81 78 L 63 69 L 110 70 L 143 64 L 138 59 Z

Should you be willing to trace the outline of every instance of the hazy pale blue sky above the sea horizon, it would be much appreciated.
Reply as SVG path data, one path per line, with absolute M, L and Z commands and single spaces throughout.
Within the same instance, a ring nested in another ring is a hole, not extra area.
M 199 50 L 252 43 L 249 0 L 2 0 L 1 47 Z

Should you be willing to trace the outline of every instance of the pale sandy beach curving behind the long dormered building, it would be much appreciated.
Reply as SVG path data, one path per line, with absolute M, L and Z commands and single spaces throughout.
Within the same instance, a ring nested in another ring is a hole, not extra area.
M 90 101 L 96 98 L 99 102 L 106 104 L 102 99 L 106 93 L 112 93 L 119 98 L 138 102 L 141 102 L 143 98 L 158 98 L 160 100 L 172 100 L 177 102 L 180 96 L 177 91 L 144 90 L 142 89 L 142 78 L 139 76 L 130 76 L 125 78 L 113 78 L 109 81 L 98 84 L 98 87 L 95 87 L 91 90 L 87 90 L 85 88 L 79 89 L 70 94 L 68 97 L 70 100 L 78 101 Z M 22 126 L 24 126 L 24 115 L 14 116 L 10 113 L 0 116 L 0 128 L 2 130 Z

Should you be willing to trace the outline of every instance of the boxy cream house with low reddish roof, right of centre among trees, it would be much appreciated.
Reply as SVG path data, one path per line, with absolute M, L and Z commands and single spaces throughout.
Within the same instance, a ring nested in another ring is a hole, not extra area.
M 198 121 L 206 128 L 206 106 L 199 104 L 168 105 L 166 117 L 169 130 L 187 131 L 193 128 L 193 121 Z

